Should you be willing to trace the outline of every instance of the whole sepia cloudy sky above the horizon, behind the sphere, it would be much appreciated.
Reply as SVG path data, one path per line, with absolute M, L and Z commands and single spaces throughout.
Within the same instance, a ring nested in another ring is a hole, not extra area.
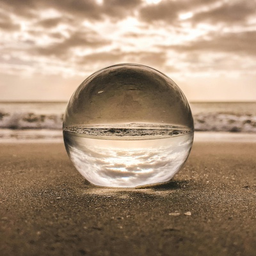
M 68 100 L 138 63 L 190 102 L 256 101 L 256 0 L 1 0 L 0 100 Z

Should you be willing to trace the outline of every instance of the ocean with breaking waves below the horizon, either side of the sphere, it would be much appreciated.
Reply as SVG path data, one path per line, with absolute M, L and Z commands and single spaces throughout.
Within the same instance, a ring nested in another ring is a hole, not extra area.
M 256 102 L 191 102 L 196 132 L 256 133 Z M 0 140 L 62 139 L 67 102 L 0 102 Z

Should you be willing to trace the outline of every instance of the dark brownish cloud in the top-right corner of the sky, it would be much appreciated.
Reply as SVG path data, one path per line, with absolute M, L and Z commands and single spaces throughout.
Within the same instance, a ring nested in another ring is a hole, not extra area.
M 239 24 L 246 21 L 248 17 L 256 14 L 256 1 L 221 1 L 211 0 L 180 0 L 161 1 L 159 4 L 145 6 L 140 10 L 140 19 L 145 22 L 162 21 L 172 26 L 179 26 L 182 20 L 180 14 L 191 12 L 193 16 L 186 22 L 199 24 L 208 22 L 210 24 L 225 23 Z

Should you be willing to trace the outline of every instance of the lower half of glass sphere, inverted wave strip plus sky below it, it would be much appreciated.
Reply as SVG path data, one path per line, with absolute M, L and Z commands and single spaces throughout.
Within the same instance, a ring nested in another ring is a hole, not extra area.
M 63 136 L 77 170 L 107 187 L 167 182 L 185 163 L 193 143 L 193 131 L 172 125 L 65 127 Z

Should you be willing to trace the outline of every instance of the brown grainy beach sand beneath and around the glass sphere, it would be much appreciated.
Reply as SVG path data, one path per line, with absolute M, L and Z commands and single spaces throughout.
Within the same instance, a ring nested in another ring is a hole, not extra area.
M 140 189 L 88 184 L 63 143 L 0 152 L 0 255 L 256 255 L 256 143 L 195 142 Z

